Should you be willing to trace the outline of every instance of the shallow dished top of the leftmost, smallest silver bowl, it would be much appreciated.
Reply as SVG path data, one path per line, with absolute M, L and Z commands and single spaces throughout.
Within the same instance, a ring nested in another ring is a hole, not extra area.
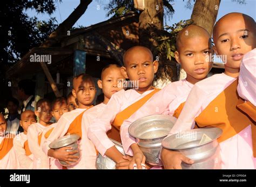
M 77 134 L 66 135 L 66 136 L 60 137 L 57 140 L 51 142 L 49 144 L 49 147 L 51 149 L 62 148 L 62 147 L 68 146 L 71 143 L 76 142 L 79 138 L 80 138 L 80 136 Z

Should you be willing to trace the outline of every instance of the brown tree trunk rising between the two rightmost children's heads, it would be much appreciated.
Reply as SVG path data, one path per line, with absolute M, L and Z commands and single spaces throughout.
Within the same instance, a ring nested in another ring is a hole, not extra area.
M 220 0 L 197 0 L 194 4 L 191 19 L 206 29 L 210 35 L 216 21 Z

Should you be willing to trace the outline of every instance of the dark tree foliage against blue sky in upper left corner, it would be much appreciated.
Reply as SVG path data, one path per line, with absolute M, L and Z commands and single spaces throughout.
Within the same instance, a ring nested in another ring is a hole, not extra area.
M 29 17 L 25 13 L 28 9 L 51 15 L 56 9 L 55 0 L 19 0 L 2 3 L 0 63 L 10 66 L 32 47 L 39 46 L 55 30 L 55 18 L 41 21 L 36 17 Z

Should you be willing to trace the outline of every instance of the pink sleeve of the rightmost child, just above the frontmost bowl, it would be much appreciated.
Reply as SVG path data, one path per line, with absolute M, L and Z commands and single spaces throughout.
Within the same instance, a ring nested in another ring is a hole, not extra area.
M 206 100 L 207 93 L 200 89 L 197 84 L 194 85 L 170 134 L 194 128 L 194 119 L 201 113 L 201 106 Z

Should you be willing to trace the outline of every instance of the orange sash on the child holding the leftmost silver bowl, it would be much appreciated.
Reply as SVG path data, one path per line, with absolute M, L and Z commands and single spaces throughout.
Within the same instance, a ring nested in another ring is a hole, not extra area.
M 90 106 L 89 108 L 91 108 L 91 107 L 93 107 L 93 105 Z M 89 109 L 89 108 L 87 108 L 87 109 Z M 86 110 L 87 110 L 87 109 L 86 109 Z M 86 110 L 84 110 L 84 112 L 85 112 Z M 77 134 L 77 135 L 80 136 L 79 140 L 82 138 L 82 126 L 81 126 L 81 124 L 82 124 L 82 119 L 83 119 L 83 114 L 84 114 L 84 112 L 82 112 L 81 114 L 79 114 L 79 115 L 75 118 L 75 120 L 73 120 L 73 121 L 70 123 L 69 129 L 68 129 L 68 131 L 66 132 L 65 135 Z

